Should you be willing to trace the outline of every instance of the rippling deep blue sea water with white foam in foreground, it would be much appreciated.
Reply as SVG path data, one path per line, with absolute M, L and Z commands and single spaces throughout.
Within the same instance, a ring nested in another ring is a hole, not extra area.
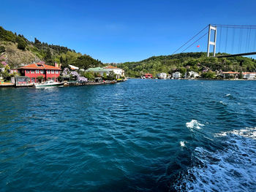
M 256 191 L 256 82 L 0 88 L 0 191 Z

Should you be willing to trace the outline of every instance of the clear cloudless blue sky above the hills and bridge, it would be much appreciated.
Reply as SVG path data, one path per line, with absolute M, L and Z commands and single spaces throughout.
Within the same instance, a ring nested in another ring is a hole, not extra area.
M 122 63 L 171 55 L 209 23 L 256 25 L 255 7 L 255 0 L 1 0 L 0 26 L 31 41 L 36 37 L 104 63 Z M 228 36 L 227 46 L 222 37 L 217 52 L 236 53 L 236 35 Z M 207 35 L 186 52 L 206 51 L 206 42 Z

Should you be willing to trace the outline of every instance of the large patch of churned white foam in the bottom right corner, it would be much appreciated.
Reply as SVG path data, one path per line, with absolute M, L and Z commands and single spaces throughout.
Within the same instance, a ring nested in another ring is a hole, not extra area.
M 196 147 L 193 165 L 177 180 L 177 191 L 256 191 L 256 127 L 226 131 L 224 150 Z

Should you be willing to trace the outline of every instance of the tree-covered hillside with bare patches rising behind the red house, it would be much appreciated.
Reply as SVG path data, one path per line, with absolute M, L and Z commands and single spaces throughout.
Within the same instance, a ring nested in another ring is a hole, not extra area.
M 23 35 L 12 33 L 0 26 L 0 65 L 7 63 L 10 68 L 17 68 L 20 64 L 38 61 L 45 61 L 49 65 L 57 62 L 63 67 L 72 64 L 83 69 L 89 66 L 102 66 L 101 61 L 89 55 L 76 53 L 75 50 L 60 45 L 48 45 L 37 38 L 30 42 Z

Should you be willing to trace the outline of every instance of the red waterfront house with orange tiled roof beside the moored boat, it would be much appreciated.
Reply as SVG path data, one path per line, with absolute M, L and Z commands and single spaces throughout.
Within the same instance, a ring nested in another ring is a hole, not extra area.
M 60 75 L 61 69 L 56 66 L 50 66 L 46 64 L 30 64 L 27 66 L 22 66 L 18 69 L 18 72 L 22 76 L 30 78 L 30 82 L 37 82 L 37 77 L 42 76 L 44 80 L 57 81 Z

